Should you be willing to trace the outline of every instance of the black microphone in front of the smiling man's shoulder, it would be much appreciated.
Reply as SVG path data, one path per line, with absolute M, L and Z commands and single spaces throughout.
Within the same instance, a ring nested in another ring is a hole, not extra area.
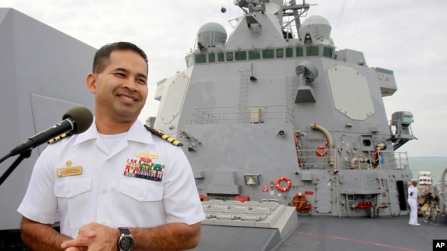
M 16 146 L 15 149 L 8 153 L 8 155 L 1 158 L 0 162 L 11 156 L 24 153 L 29 149 L 34 149 L 36 146 L 40 146 L 41 144 L 48 142 L 50 139 L 64 135 L 68 132 L 71 134 L 80 134 L 85 132 L 89 129 L 91 123 L 93 123 L 93 115 L 86 107 L 73 107 L 69 109 L 64 116 L 62 116 L 62 119 L 63 121 L 48 128 L 47 130 L 44 130 L 43 132 L 39 132 L 38 134 L 30 137 L 26 142 Z M 65 137 L 65 135 L 63 137 Z

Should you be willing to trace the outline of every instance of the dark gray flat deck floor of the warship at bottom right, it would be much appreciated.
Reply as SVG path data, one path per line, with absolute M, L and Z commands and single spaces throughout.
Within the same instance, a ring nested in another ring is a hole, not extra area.
M 447 239 L 446 225 L 408 224 L 409 216 L 395 218 L 298 217 L 298 227 L 277 251 L 295 250 L 432 250 L 434 239 Z M 278 232 L 247 227 L 202 227 L 196 250 L 272 250 Z

